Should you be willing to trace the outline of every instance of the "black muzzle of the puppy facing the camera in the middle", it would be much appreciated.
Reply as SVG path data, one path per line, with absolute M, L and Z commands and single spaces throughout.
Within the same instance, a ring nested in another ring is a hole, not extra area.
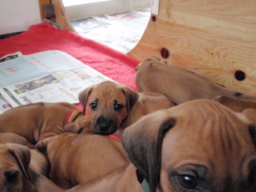
M 101 135 L 112 134 L 117 128 L 117 123 L 109 116 L 100 116 L 93 123 L 94 132 Z

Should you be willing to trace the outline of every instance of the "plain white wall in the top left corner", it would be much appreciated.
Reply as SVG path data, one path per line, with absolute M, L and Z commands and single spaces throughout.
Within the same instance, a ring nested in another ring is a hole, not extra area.
M 39 22 L 38 0 L 0 0 L 0 34 L 24 31 Z

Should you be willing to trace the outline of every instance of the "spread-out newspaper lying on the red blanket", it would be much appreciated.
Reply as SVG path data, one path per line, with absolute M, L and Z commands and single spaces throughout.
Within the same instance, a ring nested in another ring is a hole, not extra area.
M 58 50 L 0 58 L 0 94 L 12 107 L 41 101 L 78 103 L 79 92 L 105 80 L 112 79 Z

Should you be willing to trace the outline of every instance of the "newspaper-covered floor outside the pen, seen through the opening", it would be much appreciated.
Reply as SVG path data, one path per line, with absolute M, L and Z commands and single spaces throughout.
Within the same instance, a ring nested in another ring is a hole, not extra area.
M 150 18 L 150 7 L 71 21 L 82 36 L 127 53 L 141 38 Z

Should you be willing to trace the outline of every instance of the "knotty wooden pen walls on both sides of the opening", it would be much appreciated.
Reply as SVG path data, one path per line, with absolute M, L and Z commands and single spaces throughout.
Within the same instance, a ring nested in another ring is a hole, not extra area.
M 61 0 L 51 3 L 61 28 L 74 31 Z M 139 61 L 162 57 L 170 65 L 256 95 L 255 34 L 255 0 L 151 0 L 147 27 L 127 54 Z

